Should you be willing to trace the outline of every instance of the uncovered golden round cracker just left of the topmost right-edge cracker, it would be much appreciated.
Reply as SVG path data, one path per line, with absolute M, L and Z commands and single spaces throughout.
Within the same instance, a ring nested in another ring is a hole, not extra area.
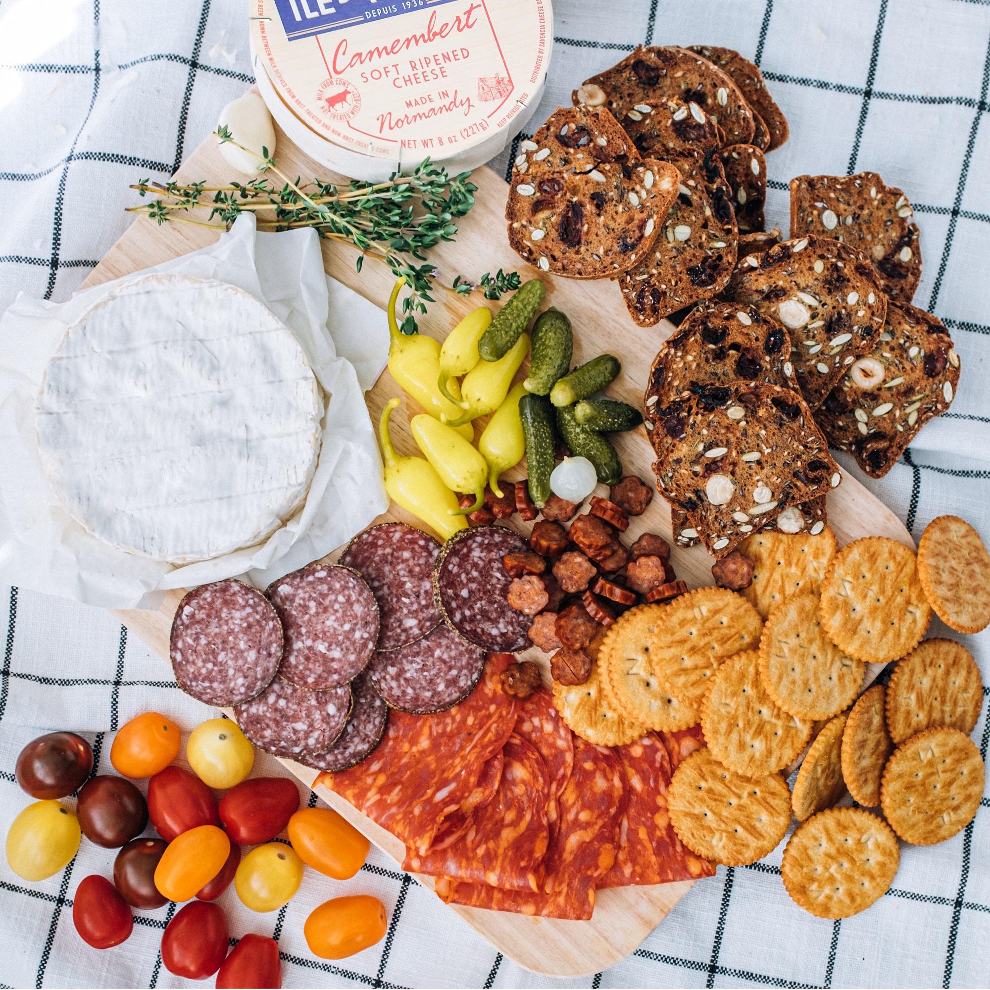
M 915 554 L 890 537 L 843 546 L 822 578 L 829 639 L 866 663 L 889 663 L 915 648 L 932 621 Z

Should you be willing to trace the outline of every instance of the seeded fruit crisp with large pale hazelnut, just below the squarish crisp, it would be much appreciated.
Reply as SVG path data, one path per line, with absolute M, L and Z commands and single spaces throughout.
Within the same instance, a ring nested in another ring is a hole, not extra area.
M 784 241 L 737 265 L 725 297 L 750 303 L 791 335 L 791 363 L 812 410 L 876 346 L 887 299 L 864 254 L 829 238 Z

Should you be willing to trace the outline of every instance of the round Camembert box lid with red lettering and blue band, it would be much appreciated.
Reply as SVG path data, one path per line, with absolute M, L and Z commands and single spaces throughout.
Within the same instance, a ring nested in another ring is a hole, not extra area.
M 259 67 L 292 113 L 341 148 L 399 162 L 515 134 L 552 44 L 549 0 L 250 4 Z

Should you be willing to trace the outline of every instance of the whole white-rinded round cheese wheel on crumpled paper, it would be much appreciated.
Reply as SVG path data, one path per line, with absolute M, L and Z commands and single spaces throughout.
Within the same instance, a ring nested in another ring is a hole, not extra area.
M 178 564 L 260 543 L 298 511 L 323 399 L 299 342 L 253 296 L 156 274 L 67 329 L 36 415 L 71 517 L 107 544 Z

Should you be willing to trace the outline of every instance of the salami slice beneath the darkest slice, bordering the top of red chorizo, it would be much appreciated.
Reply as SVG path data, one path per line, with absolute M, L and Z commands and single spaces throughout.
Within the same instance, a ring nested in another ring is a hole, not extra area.
M 481 649 L 446 626 L 401 649 L 376 652 L 368 670 L 378 693 L 411 715 L 430 715 L 456 705 L 474 690 L 485 668 Z

